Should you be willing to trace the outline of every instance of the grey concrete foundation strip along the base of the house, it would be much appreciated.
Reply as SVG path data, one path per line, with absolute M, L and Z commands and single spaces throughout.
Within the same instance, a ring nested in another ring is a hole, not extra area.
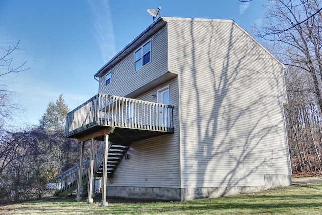
M 290 175 L 264 175 L 265 186 L 203 187 L 203 188 L 151 188 L 108 186 L 108 197 L 185 201 L 199 198 L 218 198 L 240 193 L 258 192 L 280 186 L 291 186 Z

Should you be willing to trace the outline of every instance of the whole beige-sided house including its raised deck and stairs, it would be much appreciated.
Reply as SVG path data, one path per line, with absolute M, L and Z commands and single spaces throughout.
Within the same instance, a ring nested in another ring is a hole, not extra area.
M 68 114 L 66 136 L 92 140 L 93 153 L 57 177 L 60 193 L 93 175 L 102 205 L 106 195 L 183 201 L 291 185 L 284 69 L 233 20 L 159 18 Z M 109 144 L 94 150 L 95 140 Z

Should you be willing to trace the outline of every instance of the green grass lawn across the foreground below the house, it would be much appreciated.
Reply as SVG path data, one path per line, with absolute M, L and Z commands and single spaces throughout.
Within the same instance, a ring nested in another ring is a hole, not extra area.
M 85 199 L 50 199 L 1 206 L 0 214 L 322 214 L 322 183 L 216 199 L 100 205 L 89 205 Z

